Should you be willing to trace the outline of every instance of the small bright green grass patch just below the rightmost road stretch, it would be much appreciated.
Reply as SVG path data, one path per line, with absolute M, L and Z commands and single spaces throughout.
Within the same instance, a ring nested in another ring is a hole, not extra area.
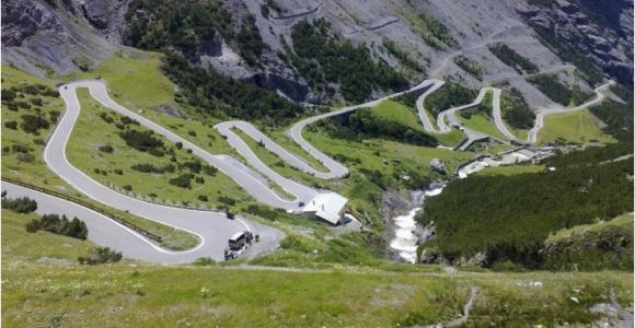
M 538 133 L 539 143 L 614 142 L 601 130 L 602 122 L 588 110 L 555 114 L 544 118 Z

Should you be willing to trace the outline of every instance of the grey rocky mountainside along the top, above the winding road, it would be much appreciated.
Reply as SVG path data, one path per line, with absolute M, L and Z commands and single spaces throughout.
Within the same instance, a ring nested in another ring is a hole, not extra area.
M 324 19 L 331 37 L 366 47 L 376 62 L 396 68 L 411 83 L 447 77 L 472 86 L 509 84 L 535 108 L 552 101 L 526 81 L 527 73 L 507 66 L 488 48 L 504 43 L 539 71 L 558 74 L 565 83 L 579 83 L 581 90 L 588 91 L 603 75 L 628 84 L 633 77 L 632 1 L 610 2 L 604 11 L 585 0 L 368 0 L 363 5 L 353 0 L 199 0 L 182 5 L 211 5 L 206 8 L 229 16 L 227 24 L 217 22 L 213 26 L 218 33 L 201 36 L 193 30 L 197 51 L 188 60 L 298 102 L 324 103 L 334 96 L 313 85 L 298 63 L 289 60 L 298 52 L 293 26 Z M 158 3 L 168 3 L 168 12 L 154 12 Z M 2 61 L 38 75 L 94 67 L 122 46 L 139 45 L 130 38 L 135 22 L 150 24 L 145 26 L 149 30 L 166 20 L 163 15 L 173 19 L 170 9 L 174 3 L 3 1 Z M 176 16 L 198 16 L 182 9 L 176 12 Z M 186 31 L 182 32 L 186 38 Z M 250 51 L 245 45 L 258 50 Z M 147 48 L 180 52 L 174 44 Z M 474 62 L 482 73 L 474 77 L 466 72 L 457 58 Z M 331 81 L 326 89 L 337 91 L 338 84 Z M 384 92 L 373 89 L 369 96 Z

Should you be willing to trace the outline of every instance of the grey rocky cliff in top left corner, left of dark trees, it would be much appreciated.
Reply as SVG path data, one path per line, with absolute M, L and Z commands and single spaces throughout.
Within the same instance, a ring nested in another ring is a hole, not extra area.
M 36 75 L 96 66 L 117 50 L 127 2 L 2 1 L 2 62 Z

